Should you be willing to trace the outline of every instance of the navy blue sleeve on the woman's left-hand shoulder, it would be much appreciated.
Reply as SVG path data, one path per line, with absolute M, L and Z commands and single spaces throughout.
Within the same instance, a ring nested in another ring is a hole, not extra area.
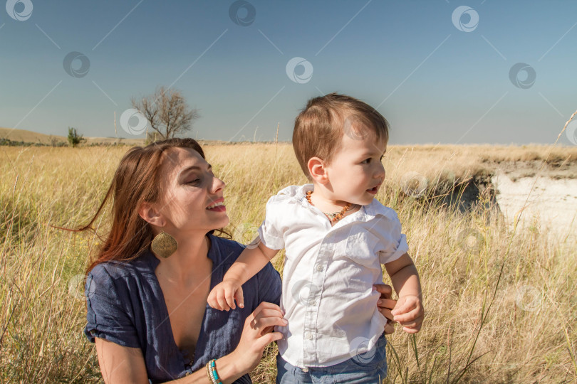
M 104 265 L 97 265 L 86 277 L 85 297 L 88 324 L 84 334 L 88 341 L 94 343 L 98 337 L 120 346 L 140 348 L 125 279 L 115 279 Z

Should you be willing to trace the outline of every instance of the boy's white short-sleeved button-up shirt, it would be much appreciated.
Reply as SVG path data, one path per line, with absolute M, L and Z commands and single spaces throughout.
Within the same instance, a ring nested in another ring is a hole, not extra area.
M 259 236 L 286 249 L 281 309 L 276 327 L 285 361 L 299 368 L 333 366 L 375 346 L 387 319 L 377 309 L 381 264 L 408 250 L 395 210 L 376 199 L 333 227 L 306 200 L 313 185 L 289 186 L 266 203 Z

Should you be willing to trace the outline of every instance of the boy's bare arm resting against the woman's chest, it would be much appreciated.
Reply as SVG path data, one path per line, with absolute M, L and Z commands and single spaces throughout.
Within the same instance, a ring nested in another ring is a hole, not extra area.
M 220 284 L 217 284 L 209 293 L 207 302 L 209 306 L 221 311 L 236 309 L 234 299 L 241 308 L 244 308 L 244 296 L 242 284 L 262 270 L 267 262 L 276 255 L 279 250 L 271 250 L 262 242 L 254 248 L 245 248 L 236 262 L 229 268 Z

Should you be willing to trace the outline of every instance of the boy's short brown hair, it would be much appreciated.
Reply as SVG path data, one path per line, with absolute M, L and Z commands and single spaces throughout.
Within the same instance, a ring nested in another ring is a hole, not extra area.
M 377 141 L 389 139 L 389 123 L 375 108 L 347 95 L 329 93 L 313 97 L 294 122 L 293 149 L 304 174 L 312 157 L 331 164 L 333 154 L 341 149 L 343 134 L 362 139 L 374 133 Z

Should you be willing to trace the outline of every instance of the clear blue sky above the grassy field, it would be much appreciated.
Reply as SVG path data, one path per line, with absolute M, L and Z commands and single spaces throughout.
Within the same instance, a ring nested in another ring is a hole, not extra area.
M 549 144 L 577 110 L 577 1 L 250 0 L 238 23 L 234 1 L 4 2 L 0 127 L 114 137 L 114 112 L 158 85 L 199 109 L 199 139 L 274 140 L 280 123 L 290 140 L 328 92 L 378 106 L 391 144 Z

